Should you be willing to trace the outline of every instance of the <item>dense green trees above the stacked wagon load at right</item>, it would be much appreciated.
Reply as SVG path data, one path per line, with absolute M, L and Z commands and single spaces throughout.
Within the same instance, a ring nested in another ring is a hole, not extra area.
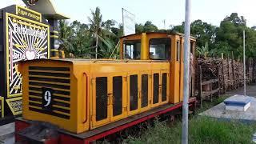
M 209 54 L 221 56 L 234 52 L 234 57 L 242 57 L 242 31 L 246 30 L 246 56 L 254 58 L 256 56 L 256 26 L 251 28 L 246 26 L 246 19 L 237 13 L 232 13 L 222 20 L 220 26 L 212 26 L 202 20 L 195 20 L 191 23 L 191 35 L 197 38 L 197 46 L 202 48 L 209 44 Z M 182 25 L 173 26 L 173 31 L 184 33 L 184 22 Z

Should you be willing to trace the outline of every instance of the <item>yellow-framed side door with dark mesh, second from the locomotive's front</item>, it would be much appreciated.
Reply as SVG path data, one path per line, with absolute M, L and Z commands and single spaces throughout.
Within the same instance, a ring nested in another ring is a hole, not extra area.
M 117 73 L 110 76 L 111 122 L 127 116 L 126 85 L 126 73 Z

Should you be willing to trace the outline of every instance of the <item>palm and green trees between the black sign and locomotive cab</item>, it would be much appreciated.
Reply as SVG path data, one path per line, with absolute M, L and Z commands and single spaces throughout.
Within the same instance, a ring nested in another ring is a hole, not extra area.
M 103 22 L 98 7 L 95 11 L 91 10 L 88 20 L 89 24 L 59 21 L 60 39 L 66 56 L 71 54 L 75 58 L 94 58 L 99 54 L 100 58 L 118 58 L 118 37 L 122 36 L 122 26 L 114 27 L 114 20 Z

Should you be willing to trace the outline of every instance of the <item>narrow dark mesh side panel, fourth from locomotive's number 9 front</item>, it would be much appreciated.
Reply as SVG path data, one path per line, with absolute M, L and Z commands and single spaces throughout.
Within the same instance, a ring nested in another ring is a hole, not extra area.
M 142 107 L 148 106 L 148 74 L 142 74 Z

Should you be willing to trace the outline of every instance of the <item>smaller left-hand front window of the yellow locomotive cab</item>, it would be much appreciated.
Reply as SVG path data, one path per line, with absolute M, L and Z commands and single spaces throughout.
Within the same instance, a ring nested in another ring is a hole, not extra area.
M 124 41 L 123 47 L 125 59 L 141 58 L 141 41 Z

